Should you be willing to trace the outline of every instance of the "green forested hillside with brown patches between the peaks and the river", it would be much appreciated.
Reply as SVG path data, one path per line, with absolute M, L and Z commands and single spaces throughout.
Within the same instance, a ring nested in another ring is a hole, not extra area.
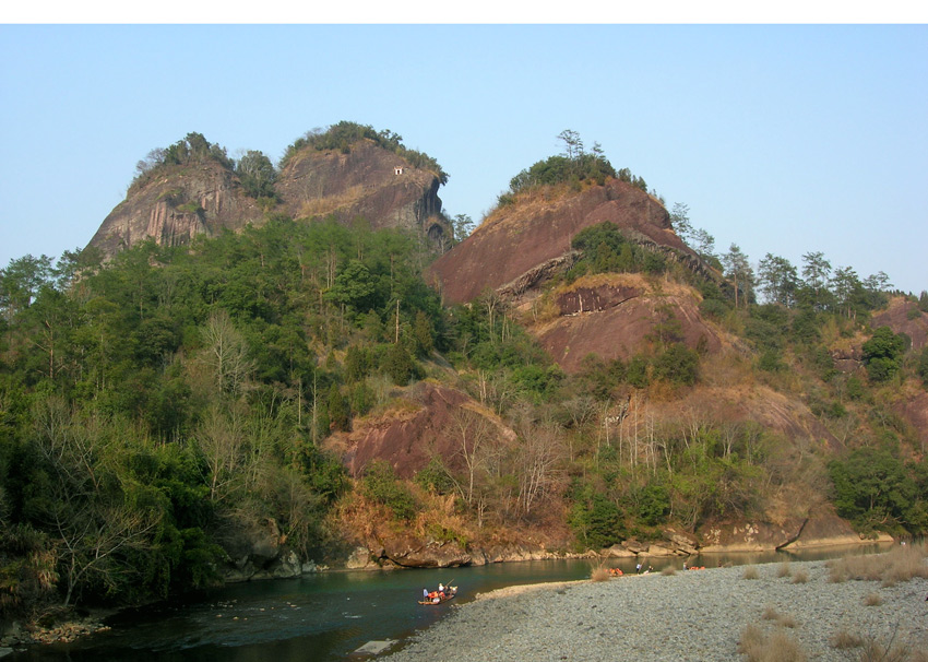
M 563 176 L 520 174 L 500 210 L 616 174 L 599 154 L 582 177 L 580 156 L 563 158 Z M 816 252 L 801 277 L 770 255 L 753 273 L 737 246 L 714 255 L 685 206 L 670 218 L 706 269 L 596 224 L 531 300 L 487 289 L 454 307 L 423 277 L 437 256 L 420 234 L 273 212 L 106 263 L 93 250 L 12 261 L 0 615 L 207 587 L 255 529 L 273 531 L 275 557 L 326 563 L 386 529 L 474 553 L 668 530 L 699 546 L 724 522 L 813 511 L 864 534 L 928 530 L 928 294 Z M 628 352 L 567 370 L 539 324 L 576 317 L 581 286 L 666 305 Z M 682 300 L 704 341 L 668 303 Z M 396 429 L 408 446 L 417 416 L 416 438 L 444 446 L 409 464 L 370 450 Z

